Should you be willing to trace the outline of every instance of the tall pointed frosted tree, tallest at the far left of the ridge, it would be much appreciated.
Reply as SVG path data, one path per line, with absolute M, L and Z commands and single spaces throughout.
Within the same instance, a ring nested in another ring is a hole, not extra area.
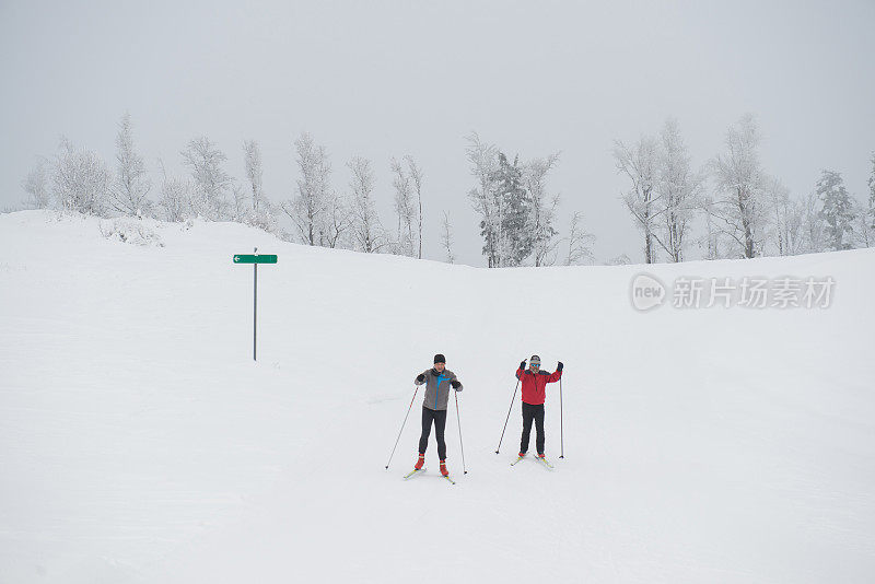
M 116 178 L 112 189 L 113 208 L 127 215 L 142 217 L 152 213 L 149 190 L 152 183 L 145 163 L 133 149 L 130 114 L 125 113 L 116 136 Z

